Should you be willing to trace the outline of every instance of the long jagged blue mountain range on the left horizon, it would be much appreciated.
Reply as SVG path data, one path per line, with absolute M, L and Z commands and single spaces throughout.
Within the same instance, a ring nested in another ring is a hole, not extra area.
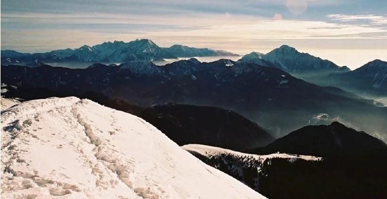
M 235 56 L 236 54 L 209 48 L 192 48 L 173 45 L 159 47 L 149 39 L 131 42 L 114 41 L 75 49 L 53 50 L 45 53 L 20 53 L 14 50 L 1 51 L 1 63 L 36 66 L 38 63 L 89 62 L 123 63 L 128 61 L 157 61 L 177 57 Z

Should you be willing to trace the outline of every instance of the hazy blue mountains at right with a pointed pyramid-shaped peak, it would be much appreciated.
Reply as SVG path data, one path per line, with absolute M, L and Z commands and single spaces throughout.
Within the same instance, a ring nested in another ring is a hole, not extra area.
M 364 97 L 387 96 L 387 62 L 381 60 L 351 71 L 346 66 L 340 67 L 329 60 L 282 45 L 266 55 L 251 52 L 238 62 L 279 68 L 310 83 L 339 87 Z

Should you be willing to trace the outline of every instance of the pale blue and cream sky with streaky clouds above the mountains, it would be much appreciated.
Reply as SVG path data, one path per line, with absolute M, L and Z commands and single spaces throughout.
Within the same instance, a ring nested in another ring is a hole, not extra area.
M 385 0 L 3 0 L 1 49 L 151 39 L 244 55 L 287 44 L 352 69 L 387 61 Z

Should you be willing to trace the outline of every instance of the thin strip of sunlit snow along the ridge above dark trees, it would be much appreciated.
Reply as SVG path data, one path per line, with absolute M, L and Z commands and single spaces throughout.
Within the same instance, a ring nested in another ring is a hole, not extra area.
M 217 154 L 233 154 L 235 156 L 252 156 L 257 160 L 266 160 L 271 158 L 286 158 L 286 159 L 289 159 L 290 161 L 294 161 L 296 159 L 304 159 L 304 160 L 311 160 L 311 161 L 322 160 L 321 157 L 308 156 L 308 155 L 294 155 L 294 154 L 287 154 L 287 153 L 274 153 L 274 154 L 268 154 L 268 155 L 247 154 L 247 153 L 236 152 L 228 149 L 218 148 L 218 147 L 206 146 L 202 144 L 187 144 L 185 146 L 182 146 L 181 148 L 187 151 L 194 151 L 204 156 L 211 156 L 211 155 L 217 155 Z

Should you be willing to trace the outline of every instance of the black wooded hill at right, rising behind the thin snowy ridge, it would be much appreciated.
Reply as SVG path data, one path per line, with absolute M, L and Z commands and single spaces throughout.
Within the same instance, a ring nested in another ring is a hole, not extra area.
M 361 156 L 387 149 L 387 144 L 365 132 L 347 128 L 339 122 L 305 126 L 275 140 L 268 146 L 249 151 L 258 154 L 275 152 L 330 156 Z

